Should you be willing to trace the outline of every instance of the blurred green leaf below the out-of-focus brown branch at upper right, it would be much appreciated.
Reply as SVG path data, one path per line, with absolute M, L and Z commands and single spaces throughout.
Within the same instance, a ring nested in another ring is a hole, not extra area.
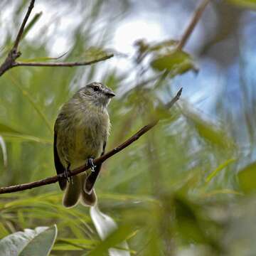
M 182 74 L 188 70 L 195 69 L 191 56 L 182 50 L 174 50 L 164 55 L 156 55 L 151 61 L 151 67 L 159 71 L 173 71 L 175 74 Z

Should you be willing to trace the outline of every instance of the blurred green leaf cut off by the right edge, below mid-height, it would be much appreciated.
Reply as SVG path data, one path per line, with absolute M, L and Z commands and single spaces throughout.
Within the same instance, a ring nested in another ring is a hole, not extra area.
M 240 188 L 245 193 L 256 191 L 256 162 L 245 166 L 238 173 L 238 181 L 240 183 Z

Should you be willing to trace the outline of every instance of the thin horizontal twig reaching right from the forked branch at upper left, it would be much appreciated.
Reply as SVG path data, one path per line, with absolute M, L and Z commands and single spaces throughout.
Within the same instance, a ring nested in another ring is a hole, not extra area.
M 94 63 L 98 63 L 103 60 L 107 60 L 109 58 L 112 58 L 114 55 L 105 55 L 104 57 L 95 59 L 95 60 L 89 60 L 89 61 L 81 61 L 81 62 L 70 62 L 70 63 L 52 63 L 52 62 L 16 62 L 14 64 L 14 67 L 18 66 L 30 66 L 30 67 L 75 67 L 75 66 L 81 66 L 81 65 L 92 65 Z

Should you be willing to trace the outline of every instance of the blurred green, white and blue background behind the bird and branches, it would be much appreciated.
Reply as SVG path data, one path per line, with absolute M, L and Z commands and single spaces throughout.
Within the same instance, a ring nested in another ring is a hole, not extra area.
M 36 1 L 20 60 L 115 55 L 79 68 L 14 68 L 0 78 L 0 185 L 55 175 L 58 110 L 97 80 L 117 92 L 107 150 L 161 118 L 103 165 L 99 207 L 119 225 L 107 246 L 126 239 L 132 255 L 256 255 L 256 2 L 212 1 L 188 54 L 175 55 L 171 40 L 181 38 L 200 2 Z M 1 1 L 1 63 L 27 6 Z M 180 87 L 181 100 L 163 110 Z M 89 208 L 63 208 L 61 198 L 57 183 L 1 195 L 0 238 L 56 223 L 51 255 L 104 251 Z

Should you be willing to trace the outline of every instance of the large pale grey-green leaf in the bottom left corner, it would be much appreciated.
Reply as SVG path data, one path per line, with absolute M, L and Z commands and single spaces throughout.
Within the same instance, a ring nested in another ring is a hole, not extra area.
M 57 227 L 25 229 L 0 241 L 0 256 L 47 256 L 57 236 Z

